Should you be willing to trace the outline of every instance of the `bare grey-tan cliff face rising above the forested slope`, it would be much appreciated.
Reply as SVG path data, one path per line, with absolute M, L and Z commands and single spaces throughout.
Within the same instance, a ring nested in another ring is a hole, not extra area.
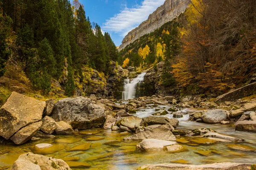
M 163 24 L 173 20 L 183 13 L 189 5 L 190 0 L 166 0 L 164 4 L 157 8 L 152 14 L 149 15 L 148 20 L 143 21 L 137 28 L 131 30 L 122 40 L 119 46 L 119 51 L 124 49 L 131 42 L 145 34 L 149 34 L 163 26 Z

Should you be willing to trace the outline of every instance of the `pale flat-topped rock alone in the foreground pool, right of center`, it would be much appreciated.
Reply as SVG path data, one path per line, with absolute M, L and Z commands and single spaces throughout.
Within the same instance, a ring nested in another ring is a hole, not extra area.
M 158 140 L 158 139 L 144 139 L 139 144 L 137 144 L 137 148 L 145 151 L 153 151 L 153 150 L 163 150 L 165 146 L 177 144 L 172 141 Z

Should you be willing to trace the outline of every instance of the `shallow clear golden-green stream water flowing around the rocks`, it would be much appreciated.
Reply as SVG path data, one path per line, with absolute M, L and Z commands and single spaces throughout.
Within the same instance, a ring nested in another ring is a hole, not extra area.
M 158 106 L 157 108 L 168 109 L 170 106 Z M 142 109 L 137 111 L 136 116 L 146 117 L 155 113 L 155 108 Z M 171 113 L 171 112 L 169 112 Z M 172 118 L 172 114 L 165 115 Z M 188 115 L 184 115 L 179 119 L 180 125 L 178 129 L 191 130 L 195 128 L 212 128 L 218 133 L 228 134 L 245 139 L 243 145 L 247 145 L 256 149 L 256 133 L 235 131 L 230 125 L 207 125 L 202 123 L 187 122 Z M 165 151 L 143 152 L 137 150 L 136 145 L 139 141 L 124 142 L 125 136 L 131 133 L 121 133 L 119 131 L 91 129 L 84 132 L 75 133 L 69 136 L 58 136 L 55 139 L 40 139 L 38 142 L 28 142 L 21 146 L 11 143 L 0 144 L 0 169 L 10 167 L 13 162 L 22 153 L 37 151 L 32 147 L 39 143 L 54 144 L 57 150 L 54 153 L 46 153 L 45 156 L 65 159 L 67 157 L 78 157 L 77 161 L 85 162 L 91 165 L 89 168 L 73 168 L 73 170 L 134 170 L 144 164 L 170 163 L 171 161 L 181 161 L 190 164 L 208 164 L 215 162 L 240 162 L 240 163 L 256 163 L 256 152 L 232 150 L 227 144 L 238 143 L 216 143 L 211 145 L 190 146 L 180 143 L 185 148 L 180 153 L 167 153 Z M 180 139 L 190 140 L 192 137 L 181 137 Z M 107 142 L 107 143 L 106 143 Z M 71 148 L 79 144 L 90 143 L 88 150 L 70 151 Z M 193 142 L 190 142 L 190 144 Z M 33 151 L 32 151 L 32 150 Z M 207 152 L 204 152 L 207 151 Z M 198 152 L 198 153 L 197 153 Z M 201 155 L 199 153 L 203 153 Z M 40 153 L 42 154 L 42 153 Z

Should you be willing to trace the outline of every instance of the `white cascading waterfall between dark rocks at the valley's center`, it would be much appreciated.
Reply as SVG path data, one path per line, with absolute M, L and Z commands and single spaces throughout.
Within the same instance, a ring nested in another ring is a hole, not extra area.
M 137 84 L 143 82 L 145 74 L 145 72 L 141 73 L 136 78 L 132 79 L 131 82 L 129 77 L 124 80 L 124 90 L 122 92 L 122 99 L 127 100 L 135 98 Z

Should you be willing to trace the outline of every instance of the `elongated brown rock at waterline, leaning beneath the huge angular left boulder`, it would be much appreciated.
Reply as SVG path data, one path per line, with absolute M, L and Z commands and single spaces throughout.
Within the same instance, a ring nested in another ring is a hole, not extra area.
M 15 144 L 23 144 L 31 139 L 40 130 L 42 122 L 35 122 L 17 131 L 10 139 Z

